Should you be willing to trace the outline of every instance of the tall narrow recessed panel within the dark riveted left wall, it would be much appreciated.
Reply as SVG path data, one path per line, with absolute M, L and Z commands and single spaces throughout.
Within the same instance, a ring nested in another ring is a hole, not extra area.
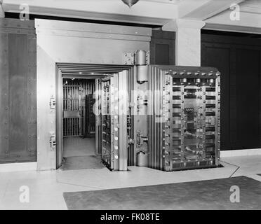
M 27 35 L 9 34 L 9 148 L 27 151 Z

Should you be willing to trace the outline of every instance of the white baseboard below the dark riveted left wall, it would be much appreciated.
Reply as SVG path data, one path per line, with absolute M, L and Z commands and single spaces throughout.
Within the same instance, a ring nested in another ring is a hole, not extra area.
M 0 164 L 0 172 L 18 172 L 36 170 L 37 162 L 15 162 Z

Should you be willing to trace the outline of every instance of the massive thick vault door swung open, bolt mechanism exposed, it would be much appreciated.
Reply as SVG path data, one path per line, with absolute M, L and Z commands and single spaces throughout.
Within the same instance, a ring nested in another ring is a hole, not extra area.
M 220 73 L 215 68 L 150 66 L 149 167 L 220 165 Z

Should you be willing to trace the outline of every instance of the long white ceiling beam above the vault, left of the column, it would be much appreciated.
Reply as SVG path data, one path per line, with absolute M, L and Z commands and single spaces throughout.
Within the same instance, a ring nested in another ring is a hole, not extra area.
M 174 1 L 174 0 L 173 0 Z M 173 2 L 170 1 L 170 2 Z M 180 0 L 185 1 L 185 0 Z M 22 3 L 27 3 L 31 14 L 41 15 L 43 8 L 48 10 L 71 10 L 81 13 L 100 13 L 100 15 L 119 15 L 137 18 L 161 18 L 173 20 L 178 18 L 178 4 L 166 3 L 168 1 L 140 0 L 135 6 L 128 8 L 121 0 L 4 0 L 3 6 L 6 12 L 19 10 Z M 175 2 L 175 1 L 174 1 Z M 34 12 L 32 12 L 34 10 Z M 72 15 L 72 13 L 70 13 Z M 57 15 L 53 15 L 57 16 Z M 66 15 L 64 15 L 67 17 Z M 108 16 L 106 16 L 108 17 Z M 78 18 L 78 15 L 75 15 Z M 104 19 L 101 19 L 104 20 Z

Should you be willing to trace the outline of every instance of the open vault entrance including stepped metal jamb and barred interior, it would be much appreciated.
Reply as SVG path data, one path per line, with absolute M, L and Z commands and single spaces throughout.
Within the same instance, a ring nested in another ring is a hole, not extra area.
M 131 73 L 131 66 L 57 64 L 57 68 L 57 168 L 63 158 L 89 155 L 101 158 L 101 116 L 95 115 L 99 83 L 121 71 Z

